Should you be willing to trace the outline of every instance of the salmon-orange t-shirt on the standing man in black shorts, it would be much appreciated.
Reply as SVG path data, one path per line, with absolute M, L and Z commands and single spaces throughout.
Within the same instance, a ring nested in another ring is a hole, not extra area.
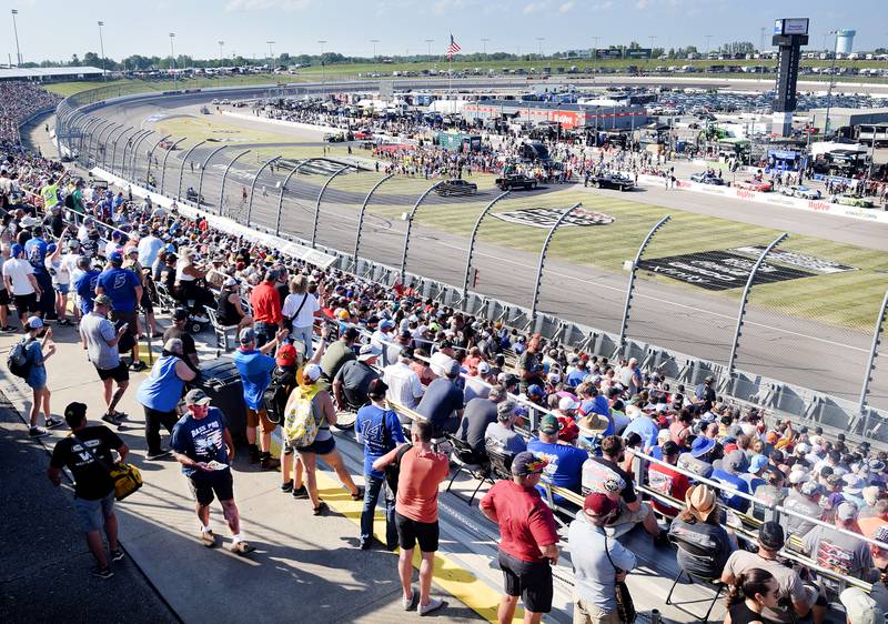
M 437 521 L 437 486 L 447 479 L 446 455 L 414 446 L 401 459 L 395 511 L 416 522 Z

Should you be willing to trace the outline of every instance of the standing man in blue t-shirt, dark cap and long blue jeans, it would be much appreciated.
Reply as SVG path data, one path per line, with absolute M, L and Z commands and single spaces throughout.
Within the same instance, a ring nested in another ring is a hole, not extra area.
M 369 550 L 373 541 L 373 516 L 380 493 L 385 500 L 385 547 L 397 547 L 395 526 L 395 493 L 385 481 L 385 473 L 373 470 L 373 462 L 406 443 L 397 414 L 385 403 L 389 391 L 385 382 L 373 380 L 367 389 L 370 403 L 357 411 L 355 431 L 364 444 L 364 507 L 361 511 L 359 547 Z

